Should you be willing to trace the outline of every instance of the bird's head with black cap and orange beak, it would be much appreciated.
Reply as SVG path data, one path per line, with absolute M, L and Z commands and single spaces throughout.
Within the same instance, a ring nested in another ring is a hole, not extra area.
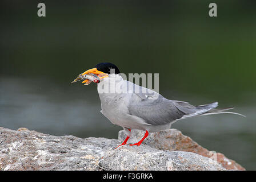
M 99 64 L 95 65 L 95 68 L 88 69 L 87 71 L 81 73 L 73 82 L 83 80 L 82 76 L 85 76 L 88 74 L 89 75 L 94 74 L 100 80 L 102 80 L 103 78 L 109 77 L 109 75 L 111 75 L 111 74 L 119 74 L 119 73 L 120 73 L 119 69 L 113 63 L 99 63 Z M 89 85 L 90 82 L 91 82 L 91 80 L 86 79 L 82 83 L 83 84 L 85 83 L 85 85 Z

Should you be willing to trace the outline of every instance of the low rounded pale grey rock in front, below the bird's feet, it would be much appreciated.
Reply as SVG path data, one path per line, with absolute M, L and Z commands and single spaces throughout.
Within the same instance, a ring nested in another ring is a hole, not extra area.
M 149 146 L 121 146 L 99 161 L 103 170 L 225 170 L 214 160 L 192 152 L 161 151 Z

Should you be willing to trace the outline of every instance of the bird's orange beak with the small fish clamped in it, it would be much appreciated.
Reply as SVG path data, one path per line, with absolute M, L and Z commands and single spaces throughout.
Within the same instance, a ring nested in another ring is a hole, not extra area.
M 103 78 L 109 77 L 107 73 L 98 71 L 97 68 L 89 69 L 75 78 L 71 83 L 83 80 L 83 84 L 89 85 L 91 82 L 99 83 Z

